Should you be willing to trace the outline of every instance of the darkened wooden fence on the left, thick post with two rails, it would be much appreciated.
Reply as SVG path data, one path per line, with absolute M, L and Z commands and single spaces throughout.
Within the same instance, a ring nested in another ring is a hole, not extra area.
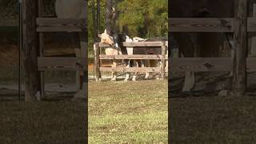
M 43 0 L 22 1 L 22 53 L 25 70 L 25 100 L 35 98 L 40 91 L 44 95 L 45 70 L 77 71 L 77 82 L 81 86 L 81 77 L 87 70 L 87 21 L 86 18 L 42 18 Z M 86 5 L 87 2 L 84 2 Z M 76 50 L 77 57 L 45 57 L 44 33 L 78 32 L 82 36 L 81 49 Z M 79 79 L 80 78 L 80 79 Z M 79 79 L 79 80 L 78 80 Z

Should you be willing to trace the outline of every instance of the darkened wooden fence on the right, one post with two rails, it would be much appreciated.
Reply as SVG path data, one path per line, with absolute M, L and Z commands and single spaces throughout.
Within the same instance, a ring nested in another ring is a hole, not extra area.
M 256 32 L 256 18 L 247 18 L 246 0 L 236 1 L 234 18 L 169 18 L 169 32 L 233 32 L 234 58 L 170 58 L 170 71 L 234 71 L 234 94 L 246 93 L 246 71 L 256 71 L 256 58 L 246 58 L 247 33 Z

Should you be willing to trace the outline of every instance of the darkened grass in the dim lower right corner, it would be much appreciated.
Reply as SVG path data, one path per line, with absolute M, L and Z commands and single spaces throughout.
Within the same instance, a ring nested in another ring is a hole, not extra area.
M 256 97 L 170 98 L 173 144 L 256 143 Z

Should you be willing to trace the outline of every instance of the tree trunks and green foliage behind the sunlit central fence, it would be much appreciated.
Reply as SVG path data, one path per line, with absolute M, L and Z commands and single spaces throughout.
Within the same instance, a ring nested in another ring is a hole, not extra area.
M 114 31 L 126 31 L 130 37 L 167 37 L 168 0 L 101 0 L 99 30 L 96 30 L 97 0 L 89 0 L 90 50 L 94 41 L 98 40 L 97 31 L 102 33 L 106 29 L 106 2 L 112 2 L 115 9 Z

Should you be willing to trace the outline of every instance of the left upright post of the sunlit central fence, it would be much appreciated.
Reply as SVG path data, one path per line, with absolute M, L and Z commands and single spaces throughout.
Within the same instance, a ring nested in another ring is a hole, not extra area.
M 101 78 L 101 71 L 100 71 L 100 61 L 99 61 L 99 53 L 100 53 L 100 47 L 99 43 L 94 44 L 94 71 L 96 73 L 96 82 L 99 81 L 99 78 Z

